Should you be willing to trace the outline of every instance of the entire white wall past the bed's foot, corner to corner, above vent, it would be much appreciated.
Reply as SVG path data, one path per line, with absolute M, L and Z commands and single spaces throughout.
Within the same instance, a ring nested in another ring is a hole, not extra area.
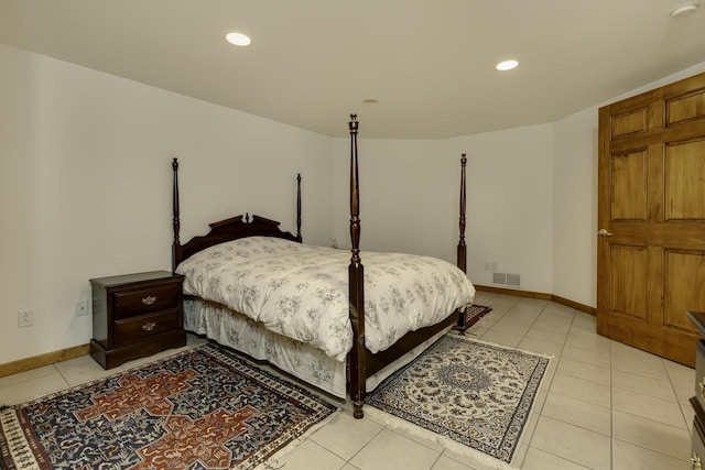
M 468 275 L 491 285 L 485 262 L 551 292 L 553 129 L 532 125 L 446 140 L 366 140 L 359 159 L 364 250 L 429 254 L 455 263 L 459 159 L 467 163 Z M 349 144 L 335 145 L 335 228 L 349 247 Z M 365 264 L 365 259 L 362 259 Z

